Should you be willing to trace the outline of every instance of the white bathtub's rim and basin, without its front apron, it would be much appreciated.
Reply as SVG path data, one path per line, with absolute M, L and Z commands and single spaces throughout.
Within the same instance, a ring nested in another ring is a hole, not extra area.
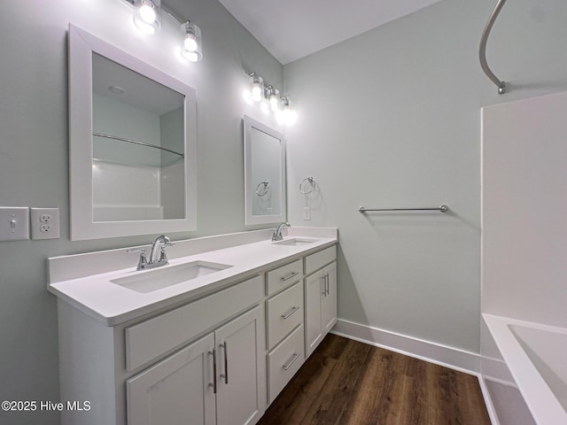
M 567 328 L 483 313 L 539 425 L 567 425 Z

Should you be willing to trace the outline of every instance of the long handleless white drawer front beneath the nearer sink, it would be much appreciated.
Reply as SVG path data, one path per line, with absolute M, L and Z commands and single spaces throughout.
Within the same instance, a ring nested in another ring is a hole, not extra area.
M 126 328 L 126 368 L 134 370 L 258 302 L 262 281 L 253 277 Z

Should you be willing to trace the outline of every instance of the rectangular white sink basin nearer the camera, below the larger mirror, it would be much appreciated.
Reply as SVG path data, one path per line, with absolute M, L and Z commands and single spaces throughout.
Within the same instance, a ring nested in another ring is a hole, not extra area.
M 136 290 L 136 292 L 152 292 L 161 290 L 177 283 L 187 282 L 197 279 L 206 274 L 220 272 L 225 268 L 229 268 L 227 264 L 210 263 L 208 261 L 191 261 L 190 263 L 180 264 L 178 266 L 163 267 L 155 270 L 141 272 L 133 276 L 120 277 L 113 279 L 117 285 Z

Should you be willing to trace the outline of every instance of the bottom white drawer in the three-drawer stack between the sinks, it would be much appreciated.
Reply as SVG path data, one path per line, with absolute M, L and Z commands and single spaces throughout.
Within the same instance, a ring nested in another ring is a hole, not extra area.
M 305 359 L 303 325 L 268 353 L 268 403 L 274 401 L 286 383 L 299 370 Z

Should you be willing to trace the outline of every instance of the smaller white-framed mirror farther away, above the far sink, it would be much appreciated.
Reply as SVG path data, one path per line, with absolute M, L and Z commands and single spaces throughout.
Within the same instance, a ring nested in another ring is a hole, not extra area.
M 285 221 L 283 134 L 245 115 L 245 224 Z

